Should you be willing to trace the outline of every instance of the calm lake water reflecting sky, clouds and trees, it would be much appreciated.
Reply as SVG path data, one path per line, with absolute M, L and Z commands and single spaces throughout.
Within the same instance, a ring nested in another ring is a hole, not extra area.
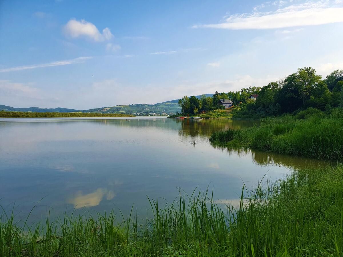
M 211 146 L 211 132 L 253 125 L 242 120 L 166 118 L 0 119 L 0 204 L 26 217 L 99 212 L 132 204 L 143 216 L 147 196 L 172 201 L 210 186 L 219 201 L 236 201 L 244 183 L 282 178 L 322 161 Z M 265 180 L 265 179 L 264 179 Z M 1 212 L 1 211 L 0 211 Z

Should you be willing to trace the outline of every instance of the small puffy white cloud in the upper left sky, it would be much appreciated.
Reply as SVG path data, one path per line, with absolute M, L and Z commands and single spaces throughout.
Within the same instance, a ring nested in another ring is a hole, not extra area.
M 103 33 L 101 34 L 93 23 L 85 20 L 77 21 L 75 19 L 71 19 L 64 26 L 63 30 L 67 36 L 72 38 L 83 36 L 91 38 L 96 42 L 109 40 L 113 37 L 109 28 L 104 28 Z

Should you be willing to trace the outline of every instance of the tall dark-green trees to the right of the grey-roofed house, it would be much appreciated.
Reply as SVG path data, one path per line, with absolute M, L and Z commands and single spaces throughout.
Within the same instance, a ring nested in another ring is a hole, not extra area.
M 333 108 L 343 107 L 342 89 L 343 70 L 335 70 L 322 79 L 311 67 L 299 68 L 279 82 L 257 88 L 254 93 L 258 95 L 256 101 L 246 99 L 242 91 L 236 92 L 242 104 L 235 108 L 233 114 L 236 118 L 261 118 L 295 114 L 307 108 L 329 114 Z

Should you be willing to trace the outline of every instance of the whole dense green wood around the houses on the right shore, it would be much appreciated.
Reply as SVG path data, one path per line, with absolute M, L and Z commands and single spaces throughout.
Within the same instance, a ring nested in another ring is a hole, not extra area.
M 254 94 L 257 99 L 250 99 Z M 299 68 L 284 79 L 263 87 L 242 88 L 240 91 L 216 94 L 200 99 L 184 96 L 179 100 L 181 112 L 197 114 L 200 110 L 217 110 L 219 99 L 230 99 L 235 105 L 235 118 L 262 118 L 283 113 L 298 113 L 310 108 L 330 113 L 343 107 L 343 70 L 335 70 L 325 79 L 311 67 Z

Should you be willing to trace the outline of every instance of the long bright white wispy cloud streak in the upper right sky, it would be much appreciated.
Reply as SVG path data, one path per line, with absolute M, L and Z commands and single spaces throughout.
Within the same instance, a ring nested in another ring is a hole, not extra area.
M 279 7 L 285 3 L 279 1 Z M 343 7 L 340 4 L 337 0 L 307 1 L 279 8 L 274 12 L 234 14 L 224 23 L 194 25 L 192 28 L 275 29 L 337 23 L 343 22 Z M 255 8 L 255 11 L 259 8 Z

